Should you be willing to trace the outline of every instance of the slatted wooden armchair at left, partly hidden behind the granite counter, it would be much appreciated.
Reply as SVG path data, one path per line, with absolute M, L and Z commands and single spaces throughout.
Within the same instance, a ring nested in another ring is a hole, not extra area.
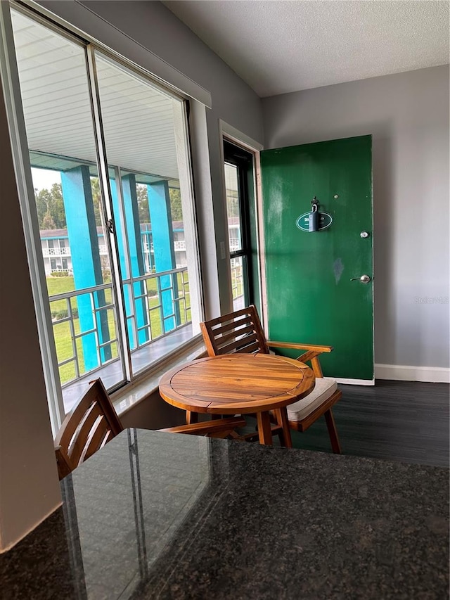
M 209 438 L 226 438 L 229 435 L 237 438 L 235 429 L 244 426 L 244 419 L 231 417 L 160 431 L 204 435 Z M 59 478 L 63 479 L 71 473 L 122 430 L 122 423 L 101 379 L 92 381 L 77 406 L 66 416 L 56 435 L 54 445 Z

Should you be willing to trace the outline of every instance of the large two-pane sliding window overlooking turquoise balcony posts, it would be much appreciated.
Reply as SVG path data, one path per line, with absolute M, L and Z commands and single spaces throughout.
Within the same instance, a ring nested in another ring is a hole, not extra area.
M 26 11 L 11 20 L 65 413 L 90 379 L 113 390 L 198 333 L 186 107 Z

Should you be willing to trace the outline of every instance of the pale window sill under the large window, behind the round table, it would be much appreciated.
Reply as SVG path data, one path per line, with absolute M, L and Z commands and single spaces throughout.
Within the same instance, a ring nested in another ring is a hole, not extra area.
M 202 355 L 205 355 L 205 344 L 203 343 L 203 339 L 200 338 L 197 340 L 197 343 L 189 345 L 184 350 L 181 350 L 181 352 L 169 355 L 167 360 L 158 364 L 158 368 L 151 371 L 150 374 L 141 376 L 141 378 L 111 394 L 111 400 L 117 414 L 119 416 L 124 414 L 138 402 L 145 400 L 146 397 L 158 391 L 160 379 L 166 371 L 174 369 L 176 366 L 181 366 L 184 362 L 200 358 Z

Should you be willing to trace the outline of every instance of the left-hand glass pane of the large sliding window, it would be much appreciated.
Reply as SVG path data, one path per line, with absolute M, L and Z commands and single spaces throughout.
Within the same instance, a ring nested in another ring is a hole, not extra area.
M 66 411 L 80 377 L 124 380 L 84 47 L 11 11 Z M 75 382 L 75 383 L 74 383 Z M 84 384 L 86 385 L 86 384 Z

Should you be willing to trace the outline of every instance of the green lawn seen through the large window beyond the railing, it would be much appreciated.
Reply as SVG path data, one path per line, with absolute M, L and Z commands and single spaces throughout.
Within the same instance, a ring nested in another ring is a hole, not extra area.
M 47 289 L 49 291 L 49 296 L 53 296 L 56 294 L 67 293 L 75 290 L 75 284 L 73 281 L 73 277 L 65 276 L 65 277 L 47 277 Z M 178 274 L 178 283 L 179 290 L 182 290 L 182 282 L 181 282 L 181 274 Z M 151 310 L 152 307 L 158 306 L 158 295 L 157 295 L 157 283 L 156 280 L 148 282 L 148 288 L 155 291 L 155 297 L 150 296 L 150 326 L 151 326 L 151 336 L 152 339 L 158 338 L 162 335 L 162 324 L 160 319 L 160 309 L 155 308 Z M 186 285 L 186 292 L 188 292 L 188 286 Z M 111 302 L 111 290 L 105 290 L 105 302 L 109 304 Z M 79 319 L 77 317 L 77 298 L 72 298 L 70 300 L 70 307 L 73 315 L 73 327 L 75 330 L 75 336 L 77 336 L 80 332 L 79 327 Z M 55 337 L 55 345 L 56 345 L 56 355 L 58 357 L 58 363 L 63 362 L 64 360 L 70 359 L 74 357 L 74 350 L 72 345 L 72 333 L 70 331 L 70 322 L 64 321 L 63 319 L 68 317 L 68 300 L 56 300 L 50 302 L 51 315 L 53 319 L 53 336 Z M 109 339 L 117 338 L 117 331 L 115 326 L 114 312 L 113 309 L 105 309 L 103 312 L 108 321 L 108 331 L 109 331 Z M 104 318 L 105 318 L 104 317 Z M 188 315 L 188 318 L 190 315 Z M 186 318 L 184 317 L 184 311 L 181 310 L 181 322 L 185 323 Z M 106 337 L 106 336 L 105 336 Z M 77 345 L 77 354 L 79 357 L 79 374 L 84 374 L 86 372 L 84 366 L 83 359 L 83 350 L 82 350 L 82 339 L 76 339 Z M 111 352 L 112 357 L 115 358 L 118 356 L 118 346 L 117 343 L 111 344 Z M 60 379 L 61 383 L 68 383 L 76 377 L 75 373 L 75 363 L 70 362 L 68 364 L 64 364 L 60 366 Z

